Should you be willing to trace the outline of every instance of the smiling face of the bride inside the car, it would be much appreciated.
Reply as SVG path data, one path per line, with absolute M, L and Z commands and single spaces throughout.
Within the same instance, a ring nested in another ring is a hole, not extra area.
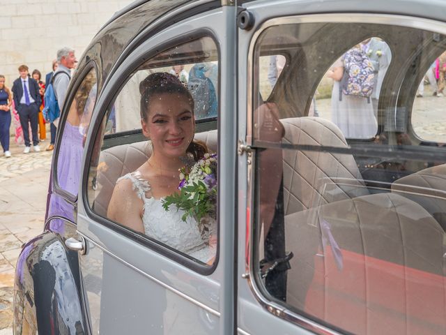
M 184 156 L 194 138 L 195 121 L 187 97 L 157 94 L 148 106 L 146 120 L 141 121 L 144 135 L 151 139 L 153 152 L 168 157 Z

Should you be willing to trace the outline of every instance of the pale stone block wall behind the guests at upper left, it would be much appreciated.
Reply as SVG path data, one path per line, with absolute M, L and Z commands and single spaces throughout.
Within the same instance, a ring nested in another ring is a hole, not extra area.
M 100 27 L 132 0 L 1 0 L 0 73 L 11 87 L 18 66 L 43 75 L 51 70 L 56 51 L 72 47 L 82 56 Z

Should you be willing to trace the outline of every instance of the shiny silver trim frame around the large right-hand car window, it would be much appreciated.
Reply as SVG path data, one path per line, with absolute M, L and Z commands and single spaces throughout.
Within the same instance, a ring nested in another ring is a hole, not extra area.
M 258 176 L 256 166 L 256 142 L 261 142 L 254 139 L 254 107 L 256 106 L 257 96 L 254 94 L 254 88 L 256 87 L 255 80 L 259 78 L 256 73 L 255 51 L 257 43 L 261 34 L 269 27 L 275 27 L 281 24 L 302 24 L 302 23 L 316 23 L 316 22 L 362 22 L 364 24 L 390 24 L 399 27 L 408 27 L 413 29 L 422 29 L 431 31 L 432 33 L 438 33 L 445 35 L 446 23 L 439 20 L 433 20 L 426 17 L 413 17 L 410 15 L 397 15 L 397 14 L 375 14 L 375 13 L 318 13 L 318 14 L 304 14 L 304 15 L 289 15 L 283 17 L 272 17 L 264 20 L 259 24 L 258 29 L 254 32 L 249 40 L 248 54 L 247 54 L 247 114 L 246 114 L 246 144 L 249 148 L 251 159 L 247 165 L 247 211 L 251 215 L 247 218 L 246 222 L 246 241 L 247 248 L 245 253 L 245 269 L 247 276 L 249 277 L 248 285 L 252 291 L 252 294 L 256 301 L 272 315 L 278 318 L 287 320 L 300 327 L 310 329 L 316 334 L 334 334 L 334 332 L 346 332 L 344 329 L 340 329 L 337 325 L 328 324 L 323 320 L 318 320 L 313 315 L 308 315 L 305 311 L 298 311 L 297 308 L 286 304 L 284 301 L 279 301 L 275 297 L 272 297 L 266 290 L 265 285 L 261 283 L 262 279 L 257 269 L 256 263 L 259 262 L 259 237 L 261 234 L 261 225 L 259 225 L 259 205 L 258 205 Z M 393 54 L 392 50 L 392 54 Z M 279 78 L 278 78 L 279 79 Z M 417 87 L 417 85 L 415 85 Z M 312 96 L 317 88 L 314 87 Z M 274 92 L 274 89 L 272 93 Z M 415 96 L 414 96 L 415 99 Z M 304 115 L 308 114 L 309 104 L 307 104 Z M 410 105 L 409 114 L 410 117 L 413 111 L 413 103 Z M 412 129 L 412 123 L 408 123 L 408 130 L 411 134 L 415 134 Z M 353 141 L 352 141 L 353 140 Z M 348 142 L 370 142 L 370 140 L 357 140 L 348 139 Z M 261 144 L 261 143 L 260 143 Z M 270 147 L 277 147 L 286 149 L 286 145 L 272 144 Z M 293 149 L 293 148 L 288 148 Z M 335 149 L 335 148 L 334 148 Z M 342 152 L 344 150 L 339 150 Z

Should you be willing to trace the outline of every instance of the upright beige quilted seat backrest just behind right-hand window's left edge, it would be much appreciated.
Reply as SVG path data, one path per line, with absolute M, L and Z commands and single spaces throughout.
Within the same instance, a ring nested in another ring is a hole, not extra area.
M 319 117 L 281 121 L 286 131 L 283 142 L 302 146 L 283 151 L 285 214 L 369 194 L 351 154 L 305 151 L 309 145 L 348 147 L 336 125 Z

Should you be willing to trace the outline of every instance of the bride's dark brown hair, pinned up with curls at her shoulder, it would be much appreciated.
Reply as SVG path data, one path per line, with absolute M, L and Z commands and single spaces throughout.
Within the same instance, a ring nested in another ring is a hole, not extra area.
M 177 94 L 184 96 L 190 103 L 192 113 L 194 112 L 194 98 L 190 91 L 176 77 L 167 72 L 152 73 L 139 83 L 139 93 L 141 93 L 141 119 L 147 121 L 148 106 L 151 99 L 159 94 Z M 194 156 L 194 160 L 198 161 L 208 152 L 208 147 L 204 142 L 192 140 L 186 152 Z

